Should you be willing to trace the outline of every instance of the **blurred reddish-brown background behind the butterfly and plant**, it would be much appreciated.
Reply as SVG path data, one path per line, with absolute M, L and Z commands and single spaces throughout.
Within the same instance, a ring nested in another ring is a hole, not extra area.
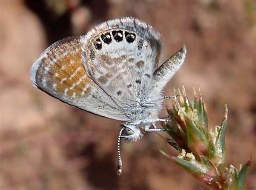
M 107 19 L 133 16 L 163 37 L 161 61 L 186 44 L 173 87 L 200 87 L 210 125 L 229 108 L 227 164 L 253 165 L 256 187 L 256 2 L 254 0 L 1 0 L 0 189 L 208 189 L 159 153 L 176 152 L 155 133 L 123 143 L 117 121 L 72 108 L 31 85 L 30 67 L 53 42 Z M 171 104 L 166 101 L 166 105 Z M 163 110 L 162 115 L 166 112 Z

